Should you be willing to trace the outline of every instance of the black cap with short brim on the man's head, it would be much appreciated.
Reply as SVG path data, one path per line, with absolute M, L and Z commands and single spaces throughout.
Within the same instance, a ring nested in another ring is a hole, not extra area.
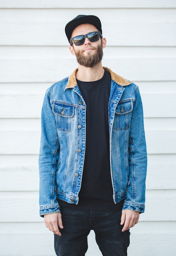
M 71 38 L 71 34 L 72 34 L 73 30 L 77 26 L 79 26 L 81 24 L 86 24 L 86 23 L 94 25 L 98 29 L 98 31 L 100 31 L 100 33 L 102 34 L 101 21 L 97 16 L 78 15 L 76 18 L 74 18 L 73 20 L 68 22 L 65 27 L 66 36 L 68 38 L 69 43 L 70 43 L 70 38 Z

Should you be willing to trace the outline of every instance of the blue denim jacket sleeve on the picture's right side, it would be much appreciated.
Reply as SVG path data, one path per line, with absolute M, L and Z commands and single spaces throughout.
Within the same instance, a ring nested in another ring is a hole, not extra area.
M 125 199 L 123 209 L 130 209 L 142 213 L 145 210 L 147 150 L 143 124 L 143 107 L 138 87 L 132 110 L 128 153 L 130 176 L 127 198 Z

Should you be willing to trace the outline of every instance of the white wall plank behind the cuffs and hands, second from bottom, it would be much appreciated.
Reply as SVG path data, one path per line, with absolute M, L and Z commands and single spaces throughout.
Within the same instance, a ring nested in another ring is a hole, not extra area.
M 41 222 L 37 192 L 2 192 L 0 193 L 1 222 Z M 11 209 L 15 213 L 12 219 Z M 176 221 L 176 190 L 146 191 L 145 213 L 141 221 Z M 159 213 L 159 214 L 157 214 Z

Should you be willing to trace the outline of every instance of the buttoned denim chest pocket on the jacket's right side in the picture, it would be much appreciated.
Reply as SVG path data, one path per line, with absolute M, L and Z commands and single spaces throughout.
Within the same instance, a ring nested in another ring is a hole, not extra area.
M 132 99 L 125 99 L 119 101 L 114 116 L 114 126 L 115 130 L 123 130 L 130 128 L 130 120 L 133 109 Z

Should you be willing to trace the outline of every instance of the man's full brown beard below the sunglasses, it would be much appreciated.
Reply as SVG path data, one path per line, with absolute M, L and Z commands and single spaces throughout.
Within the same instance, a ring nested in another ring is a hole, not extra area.
M 84 67 L 95 67 L 103 58 L 102 42 L 94 54 L 88 53 L 87 56 L 84 56 L 83 52 L 81 50 L 75 51 L 77 62 Z

